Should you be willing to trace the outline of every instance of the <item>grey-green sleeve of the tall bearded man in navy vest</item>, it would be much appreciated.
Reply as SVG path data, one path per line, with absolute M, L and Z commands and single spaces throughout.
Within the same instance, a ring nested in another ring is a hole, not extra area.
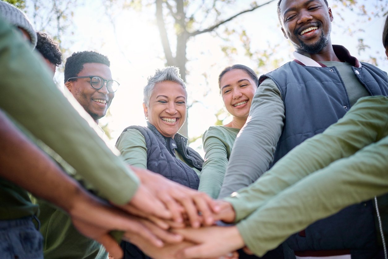
M 229 158 L 220 198 L 256 181 L 273 160 L 284 119 L 284 104 L 274 87 L 260 85 L 253 97 L 248 120 Z

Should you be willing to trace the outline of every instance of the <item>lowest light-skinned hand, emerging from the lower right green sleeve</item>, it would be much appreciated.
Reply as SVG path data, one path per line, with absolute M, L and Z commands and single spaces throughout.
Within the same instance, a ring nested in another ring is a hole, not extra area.
M 236 226 L 174 229 L 173 232 L 182 235 L 186 241 L 197 244 L 182 249 L 178 252 L 178 258 L 219 257 L 245 246 Z

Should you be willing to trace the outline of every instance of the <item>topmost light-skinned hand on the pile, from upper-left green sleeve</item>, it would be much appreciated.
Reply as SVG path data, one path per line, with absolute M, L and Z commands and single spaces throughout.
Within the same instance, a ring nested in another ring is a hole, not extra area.
M 182 213 L 185 213 L 193 228 L 199 227 L 201 223 L 205 225 L 214 223 L 213 214 L 217 213 L 219 208 L 217 203 L 205 193 L 170 181 L 149 170 L 135 167 L 131 167 L 131 169 L 139 177 L 141 185 L 147 188 L 149 194 L 153 195 L 152 201 L 162 202 L 171 212 L 174 221 L 183 222 Z M 157 216 L 154 207 L 149 207 L 152 201 L 148 202 L 144 199 L 144 196 L 135 193 L 130 205 L 141 211 L 153 211 L 151 214 Z M 198 215 L 199 213 L 202 215 L 201 217 Z M 167 217 L 163 218 L 167 219 Z

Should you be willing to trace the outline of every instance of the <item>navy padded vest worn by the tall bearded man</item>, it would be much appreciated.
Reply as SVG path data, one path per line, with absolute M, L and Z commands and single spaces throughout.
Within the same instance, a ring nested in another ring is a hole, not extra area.
M 388 95 L 388 78 L 384 71 L 359 63 L 342 46 L 333 45 L 341 60 L 353 65 L 352 70 L 369 94 Z M 350 109 L 345 85 L 335 67 L 305 66 L 289 62 L 260 77 L 271 78 L 282 94 L 285 121 L 274 153 L 274 163 L 309 137 L 323 132 Z M 303 213 L 303 212 L 301 212 Z M 367 258 L 361 250 L 376 249 L 373 205 L 371 201 L 352 205 L 339 213 L 310 225 L 288 239 L 295 251 L 358 250 L 352 258 Z

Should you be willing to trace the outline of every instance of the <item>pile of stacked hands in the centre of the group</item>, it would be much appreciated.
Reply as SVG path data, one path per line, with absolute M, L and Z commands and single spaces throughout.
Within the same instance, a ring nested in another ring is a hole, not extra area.
M 159 258 L 238 258 L 244 242 L 231 223 L 230 203 L 213 200 L 205 193 L 177 184 L 145 169 L 131 167 L 140 179 L 126 205 L 114 205 L 82 191 L 68 212 L 74 226 L 104 245 L 109 255 L 123 252 L 110 235 L 123 231 L 123 240 L 137 245 L 148 256 Z M 118 190 L 120 191 L 120 190 Z

